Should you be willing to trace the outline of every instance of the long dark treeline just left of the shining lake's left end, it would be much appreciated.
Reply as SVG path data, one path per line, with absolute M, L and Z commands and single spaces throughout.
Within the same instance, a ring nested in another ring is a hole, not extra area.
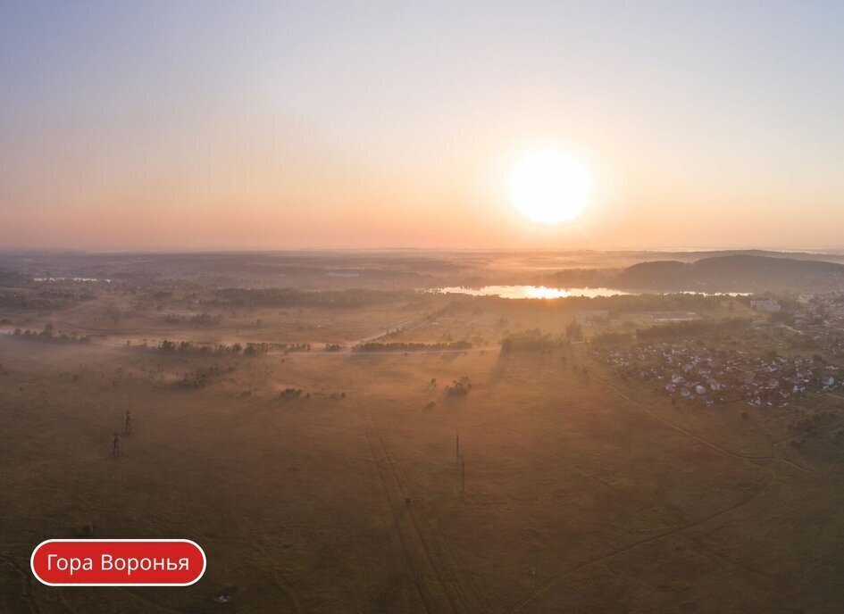
M 227 308 L 338 307 L 355 308 L 413 298 L 413 293 L 381 290 L 299 290 L 297 288 L 224 288 L 209 302 Z

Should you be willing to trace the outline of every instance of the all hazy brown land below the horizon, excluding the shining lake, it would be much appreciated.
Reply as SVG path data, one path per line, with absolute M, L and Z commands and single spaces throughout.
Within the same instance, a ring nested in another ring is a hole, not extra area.
M 5 254 L 0 609 L 837 611 L 839 257 L 663 255 Z M 55 537 L 208 567 L 39 585 Z

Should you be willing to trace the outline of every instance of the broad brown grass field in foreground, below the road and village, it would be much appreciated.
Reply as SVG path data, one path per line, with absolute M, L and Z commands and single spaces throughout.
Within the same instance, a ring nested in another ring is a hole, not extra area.
M 4 336 L 0 611 L 840 612 L 837 457 L 789 446 L 781 415 L 675 407 L 560 352 L 250 358 Z M 469 394 L 445 393 L 464 377 Z M 193 539 L 205 577 L 31 577 L 35 544 L 91 529 Z

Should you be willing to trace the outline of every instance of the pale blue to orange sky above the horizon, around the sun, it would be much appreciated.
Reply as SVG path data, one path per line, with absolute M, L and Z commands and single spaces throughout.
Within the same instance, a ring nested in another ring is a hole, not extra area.
M 4 0 L 0 249 L 844 248 L 844 3 L 403 4 Z

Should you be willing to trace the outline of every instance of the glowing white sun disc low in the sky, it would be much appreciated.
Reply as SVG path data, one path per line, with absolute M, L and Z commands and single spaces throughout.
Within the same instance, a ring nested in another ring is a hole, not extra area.
M 553 150 L 525 156 L 510 176 L 514 207 L 539 224 L 575 220 L 589 202 L 590 188 L 586 167 Z

